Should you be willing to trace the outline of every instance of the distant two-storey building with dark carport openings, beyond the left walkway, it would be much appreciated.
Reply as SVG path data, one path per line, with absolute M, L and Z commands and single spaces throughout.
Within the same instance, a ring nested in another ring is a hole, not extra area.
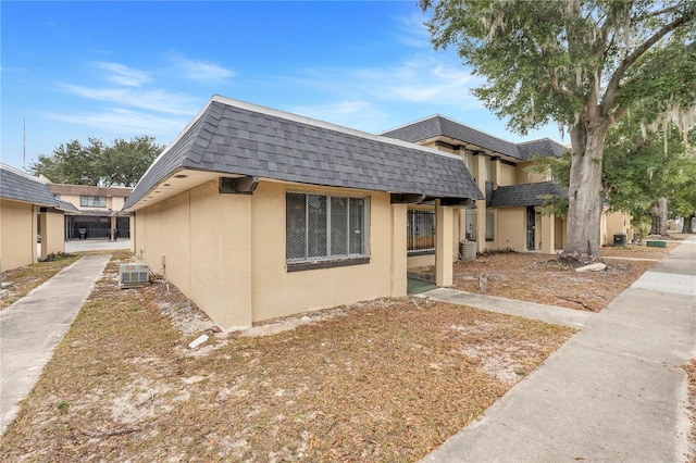
M 74 207 L 65 213 L 66 239 L 80 238 L 80 232 L 84 238 L 130 236 L 130 217 L 122 210 L 133 188 L 53 184 L 42 178 L 57 199 Z

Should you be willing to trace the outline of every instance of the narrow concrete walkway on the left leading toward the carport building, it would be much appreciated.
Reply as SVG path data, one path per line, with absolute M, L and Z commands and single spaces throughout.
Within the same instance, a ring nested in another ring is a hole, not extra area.
M 20 410 L 111 255 L 85 255 L 0 311 L 0 434 Z

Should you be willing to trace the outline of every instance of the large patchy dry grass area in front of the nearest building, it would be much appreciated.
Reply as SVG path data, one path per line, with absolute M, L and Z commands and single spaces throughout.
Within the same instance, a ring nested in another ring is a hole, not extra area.
M 572 334 L 399 298 L 307 314 L 271 336 L 214 334 L 192 351 L 209 326 L 185 329 L 196 308 L 161 281 L 119 290 L 117 263 L 2 436 L 0 460 L 414 461 Z

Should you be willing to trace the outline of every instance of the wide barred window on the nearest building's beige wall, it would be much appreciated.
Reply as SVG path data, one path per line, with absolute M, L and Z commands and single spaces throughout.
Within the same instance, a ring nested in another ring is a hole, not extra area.
M 286 263 L 365 258 L 366 202 L 365 198 L 358 197 L 288 191 L 285 195 Z M 306 266 L 299 270 L 303 268 Z

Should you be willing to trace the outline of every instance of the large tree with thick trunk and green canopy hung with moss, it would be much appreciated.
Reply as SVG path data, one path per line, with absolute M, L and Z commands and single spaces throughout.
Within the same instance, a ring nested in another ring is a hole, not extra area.
M 609 128 L 637 101 L 650 120 L 696 109 L 696 0 L 421 0 L 436 48 L 453 45 L 473 90 L 524 135 L 555 121 L 571 140 L 566 254 L 599 259 Z M 675 111 L 676 109 L 676 111 Z M 647 122 L 651 122 L 646 120 Z

